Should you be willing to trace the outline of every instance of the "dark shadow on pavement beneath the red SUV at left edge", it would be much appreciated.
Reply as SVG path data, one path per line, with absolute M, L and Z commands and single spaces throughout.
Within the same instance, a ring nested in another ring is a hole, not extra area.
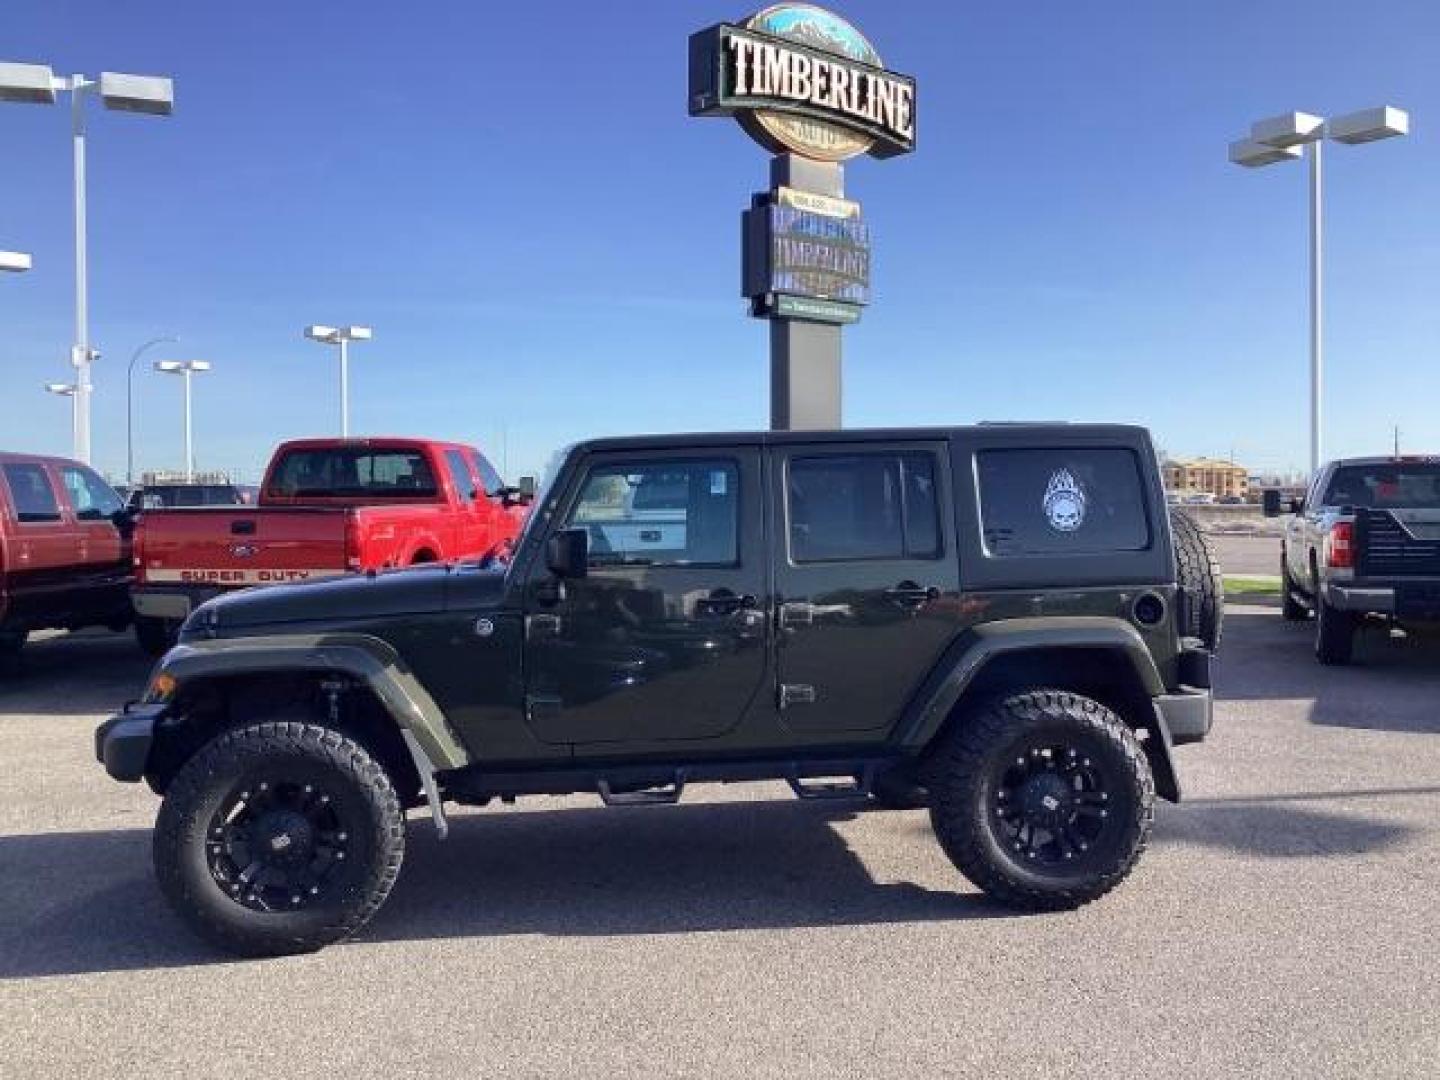
M 0 671 L 0 716 L 107 713 L 140 697 L 150 658 L 128 632 L 81 631 L 32 641 Z

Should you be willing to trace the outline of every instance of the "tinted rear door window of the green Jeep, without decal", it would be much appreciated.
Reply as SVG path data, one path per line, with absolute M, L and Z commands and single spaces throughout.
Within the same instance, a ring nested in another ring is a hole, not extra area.
M 792 458 L 786 494 L 796 563 L 940 556 L 929 454 Z

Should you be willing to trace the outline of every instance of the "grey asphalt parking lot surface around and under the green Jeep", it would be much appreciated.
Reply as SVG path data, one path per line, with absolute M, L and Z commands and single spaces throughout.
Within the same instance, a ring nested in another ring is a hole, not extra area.
M 1359 658 L 1233 608 L 1188 801 L 1073 914 L 985 903 L 923 811 L 766 785 L 418 819 L 359 940 L 240 963 L 92 759 L 145 662 L 42 642 L 0 684 L 0 1076 L 1434 1076 L 1440 644 Z

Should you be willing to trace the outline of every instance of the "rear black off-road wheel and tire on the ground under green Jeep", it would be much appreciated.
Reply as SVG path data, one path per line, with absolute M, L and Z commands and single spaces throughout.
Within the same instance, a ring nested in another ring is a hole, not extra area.
M 1028 690 L 958 717 L 926 778 L 956 868 L 1009 907 L 1080 907 L 1115 888 L 1149 842 L 1155 780 L 1113 711 Z

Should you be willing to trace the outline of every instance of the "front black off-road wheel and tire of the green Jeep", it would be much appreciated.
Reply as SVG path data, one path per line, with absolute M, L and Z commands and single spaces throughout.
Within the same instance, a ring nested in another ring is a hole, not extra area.
M 384 769 L 344 734 L 261 723 L 220 736 L 170 783 L 154 863 L 170 906 L 240 956 L 314 952 L 380 907 L 405 857 Z

